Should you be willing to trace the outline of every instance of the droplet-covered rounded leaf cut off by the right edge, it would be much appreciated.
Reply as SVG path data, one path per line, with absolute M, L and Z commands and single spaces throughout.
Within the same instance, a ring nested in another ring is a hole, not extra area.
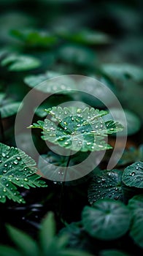
M 123 182 L 128 187 L 143 188 L 143 162 L 135 162 L 129 165 L 123 172 Z

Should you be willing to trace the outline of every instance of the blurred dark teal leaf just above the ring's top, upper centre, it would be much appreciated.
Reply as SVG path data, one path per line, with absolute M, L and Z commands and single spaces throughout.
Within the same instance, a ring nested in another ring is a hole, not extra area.
M 58 49 L 58 59 L 80 66 L 95 65 L 96 56 L 93 50 L 80 45 L 63 45 Z

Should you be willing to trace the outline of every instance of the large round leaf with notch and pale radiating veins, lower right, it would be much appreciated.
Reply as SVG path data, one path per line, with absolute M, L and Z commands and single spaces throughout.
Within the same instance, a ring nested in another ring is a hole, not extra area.
M 131 221 L 128 208 L 121 202 L 98 200 L 93 208 L 85 206 L 82 223 L 85 230 L 94 238 L 113 240 L 123 236 Z

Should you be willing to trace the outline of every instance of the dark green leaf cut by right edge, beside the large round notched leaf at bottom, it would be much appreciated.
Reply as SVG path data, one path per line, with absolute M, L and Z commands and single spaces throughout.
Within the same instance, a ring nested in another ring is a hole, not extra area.
M 130 236 L 138 246 L 143 248 L 143 195 L 132 197 L 128 207 L 132 214 Z

